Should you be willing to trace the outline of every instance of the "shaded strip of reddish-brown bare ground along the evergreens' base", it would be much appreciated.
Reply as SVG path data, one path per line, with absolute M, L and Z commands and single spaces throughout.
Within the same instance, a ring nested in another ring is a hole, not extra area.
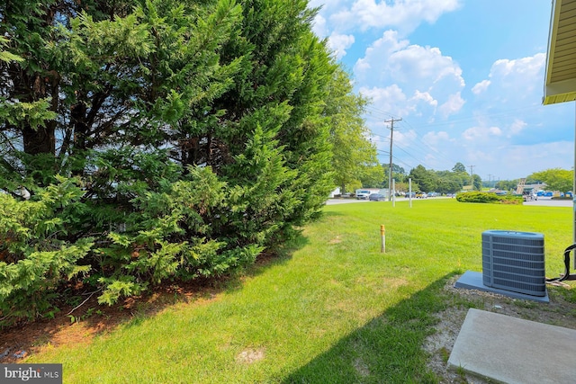
M 256 263 L 219 279 L 164 281 L 142 295 L 121 299 L 112 306 L 98 304 L 98 293 L 81 296 L 77 303 L 59 306 L 52 318 L 40 318 L 0 330 L 0 363 L 23 362 L 23 358 L 39 353 L 45 347 L 89 344 L 97 335 L 109 334 L 119 326 L 138 326 L 174 305 L 209 303 L 221 293 L 240 290 L 246 277 L 287 263 L 293 252 L 307 244 L 308 239 L 300 233 L 274 253 L 265 253 Z

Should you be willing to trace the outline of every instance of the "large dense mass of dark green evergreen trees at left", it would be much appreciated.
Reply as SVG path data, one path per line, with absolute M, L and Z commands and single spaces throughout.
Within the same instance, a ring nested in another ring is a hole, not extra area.
M 308 1 L 0 14 L 0 326 L 49 313 L 63 287 L 112 304 L 221 276 L 320 214 L 351 89 L 335 92 L 346 76 Z

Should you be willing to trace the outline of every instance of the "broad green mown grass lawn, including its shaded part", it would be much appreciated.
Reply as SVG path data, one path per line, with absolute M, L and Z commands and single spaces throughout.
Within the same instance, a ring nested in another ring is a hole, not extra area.
M 136 316 L 26 362 L 63 363 L 66 383 L 435 383 L 421 346 L 451 303 L 446 279 L 482 272 L 489 229 L 545 234 L 547 275 L 563 272 L 571 208 L 454 199 L 327 206 L 286 255 L 214 298 Z

